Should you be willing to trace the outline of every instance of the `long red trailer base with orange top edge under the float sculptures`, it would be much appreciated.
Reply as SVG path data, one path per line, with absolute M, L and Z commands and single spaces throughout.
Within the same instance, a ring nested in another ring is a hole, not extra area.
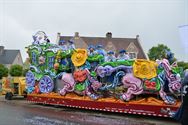
M 169 112 L 176 111 L 180 102 L 175 105 L 166 105 L 163 101 L 153 97 L 142 98 L 136 101 L 123 102 L 114 98 L 91 100 L 88 97 L 80 97 L 72 94 L 60 96 L 58 94 L 29 94 L 27 100 L 32 103 L 59 105 L 89 110 L 119 112 L 159 117 L 170 117 Z

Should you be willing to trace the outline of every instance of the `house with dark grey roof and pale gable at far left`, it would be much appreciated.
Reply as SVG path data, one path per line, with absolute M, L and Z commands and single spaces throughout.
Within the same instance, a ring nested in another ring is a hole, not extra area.
M 8 50 L 4 46 L 0 46 L 0 64 L 4 64 L 8 68 L 11 65 L 23 65 L 20 50 Z

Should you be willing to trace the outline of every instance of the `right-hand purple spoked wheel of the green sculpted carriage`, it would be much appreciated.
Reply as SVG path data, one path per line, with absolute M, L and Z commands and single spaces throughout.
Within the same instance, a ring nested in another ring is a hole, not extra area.
M 39 89 L 42 93 L 52 92 L 54 89 L 54 81 L 49 76 L 45 75 L 39 81 Z

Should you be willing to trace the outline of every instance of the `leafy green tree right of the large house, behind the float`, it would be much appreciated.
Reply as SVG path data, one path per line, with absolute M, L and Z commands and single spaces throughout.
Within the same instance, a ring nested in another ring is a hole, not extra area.
M 170 48 L 168 48 L 164 44 L 158 44 L 157 46 L 149 49 L 148 57 L 153 61 L 155 61 L 156 59 L 163 59 L 166 58 L 166 51 L 170 51 Z

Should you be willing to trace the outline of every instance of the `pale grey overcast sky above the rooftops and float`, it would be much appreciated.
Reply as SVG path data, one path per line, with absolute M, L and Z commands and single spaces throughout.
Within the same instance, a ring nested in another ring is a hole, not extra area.
M 147 53 L 159 43 L 179 60 L 188 54 L 180 42 L 178 26 L 188 24 L 188 0 L 0 0 L 0 45 L 20 49 L 32 35 L 45 31 L 55 43 L 63 35 L 136 37 Z

